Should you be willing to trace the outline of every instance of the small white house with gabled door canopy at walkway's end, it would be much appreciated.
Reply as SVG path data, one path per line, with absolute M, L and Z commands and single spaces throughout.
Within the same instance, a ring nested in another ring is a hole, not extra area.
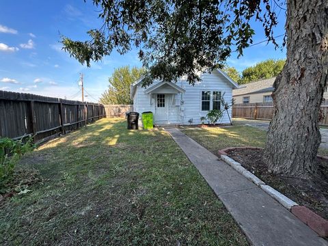
M 232 89 L 238 85 L 222 70 L 201 74 L 202 81 L 189 85 L 184 79 L 177 83 L 154 81 L 141 87 L 141 80 L 131 85 L 133 111 L 152 111 L 154 124 L 200 124 L 200 118 L 211 109 L 221 109 L 220 98 L 232 100 Z M 229 109 L 231 117 L 231 108 Z M 229 123 L 227 112 L 218 123 Z

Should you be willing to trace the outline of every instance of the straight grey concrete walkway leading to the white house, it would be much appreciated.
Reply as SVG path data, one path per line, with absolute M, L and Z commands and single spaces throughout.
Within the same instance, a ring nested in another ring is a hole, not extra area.
M 178 129 L 172 138 L 217 194 L 253 245 L 325 245 L 316 232 L 253 182 Z

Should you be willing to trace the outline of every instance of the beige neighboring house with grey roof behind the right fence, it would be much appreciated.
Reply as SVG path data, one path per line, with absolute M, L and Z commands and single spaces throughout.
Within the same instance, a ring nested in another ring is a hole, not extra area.
M 234 103 L 272 102 L 273 82 L 275 77 L 240 85 L 232 92 Z

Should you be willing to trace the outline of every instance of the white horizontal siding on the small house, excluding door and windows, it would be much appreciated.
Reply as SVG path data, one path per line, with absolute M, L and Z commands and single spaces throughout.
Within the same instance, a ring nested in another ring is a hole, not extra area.
M 159 83 L 159 81 L 154 81 L 154 84 Z M 152 86 L 151 85 L 151 86 Z M 212 74 L 204 73 L 202 74 L 202 81 L 195 83 L 195 85 L 189 85 L 187 81 L 178 81 L 176 85 L 182 87 L 186 92 L 182 94 L 182 100 L 184 104 L 181 106 L 174 105 L 174 96 L 167 95 L 165 96 L 166 103 L 169 103 L 169 112 L 168 112 L 168 123 L 169 124 L 189 124 L 189 119 L 192 119 L 192 124 L 200 124 L 200 118 L 206 116 L 208 111 L 202 111 L 201 108 L 201 94 L 202 91 L 219 91 L 221 96 L 223 95 L 224 99 L 227 102 L 231 103 L 232 100 L 232 84 L 223 77 L 222 74 L 216 70 Z M 135 92 L 133 109 L 139 113 L 143 111 L 152 111 L 155 112 L 155 97 L 152 99 L 150 105 L 150 95 L 145 94 L 144 91 L 146 88 L 137 86 Z M 180 96 L 180 94 L 178 94 Z M 222 107 L 222 106 L 221 106 Z M 229 109 L 229 114 L 231 117 L 231 108 Z M 229 123 L 228 114 L 226 111 L 223 113 L 223 118 L 219 120 L 218 123 Z

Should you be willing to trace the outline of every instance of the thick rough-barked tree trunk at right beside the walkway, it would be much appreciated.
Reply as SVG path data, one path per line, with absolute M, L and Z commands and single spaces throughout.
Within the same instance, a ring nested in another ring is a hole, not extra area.
M 318 117 L 328 79 L 328 1 L 288 0 L 287 9 L 287 59 L 273 85 L 264 159 L 275 174 L 309 178 L 316 172 Z

